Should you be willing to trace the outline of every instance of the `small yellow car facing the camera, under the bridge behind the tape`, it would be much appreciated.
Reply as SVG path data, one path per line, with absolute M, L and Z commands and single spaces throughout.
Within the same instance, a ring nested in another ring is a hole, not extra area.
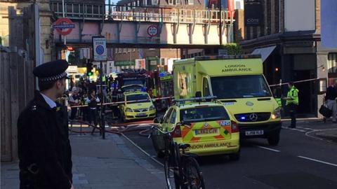
M 147 92 L 124 92 L 124 104 L 119 106 L 124 121 L 154 118 L 156 108 Z

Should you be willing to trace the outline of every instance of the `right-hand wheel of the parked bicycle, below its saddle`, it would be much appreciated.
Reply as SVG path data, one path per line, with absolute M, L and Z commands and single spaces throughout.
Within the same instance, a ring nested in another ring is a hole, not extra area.
M 183 174 L 185 177 L 185 188 L 187 189 L 204 189 L 204 177 L 200 171 L 197 160 L 193 157 L 183 158 Z

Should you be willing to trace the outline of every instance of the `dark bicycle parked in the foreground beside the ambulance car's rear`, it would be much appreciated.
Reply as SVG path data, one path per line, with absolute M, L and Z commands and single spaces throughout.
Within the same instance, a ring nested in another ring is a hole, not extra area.
M 192 154 L 186 153 L 190 144 L 177 144 L 173 141 L 171 132 L 164 132 L 154 126 L 150 137 L 154 130 L 164 134 L 164 172 L 167 187 L 173 189 L 174 184 L 176 189 L 204 189 L 204 177 L 199 164 Z

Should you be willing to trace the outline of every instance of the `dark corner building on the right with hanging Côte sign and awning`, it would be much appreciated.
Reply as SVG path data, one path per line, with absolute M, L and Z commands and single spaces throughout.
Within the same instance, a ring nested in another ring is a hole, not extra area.
M 296 82 L 298 113 L 319 116 L 325 80 L 336 74 L 331 66 L 337 52 L 320 44 L 320 0 L 245 1 L 244 11 L 244 52 L 262 56 L 270 85 Z

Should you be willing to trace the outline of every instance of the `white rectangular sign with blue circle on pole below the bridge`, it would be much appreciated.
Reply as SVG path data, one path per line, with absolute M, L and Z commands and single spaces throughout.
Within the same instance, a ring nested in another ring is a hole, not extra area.
M 107 60 L 107 41 L 103 36 L 93 36 L 93 60 Z

